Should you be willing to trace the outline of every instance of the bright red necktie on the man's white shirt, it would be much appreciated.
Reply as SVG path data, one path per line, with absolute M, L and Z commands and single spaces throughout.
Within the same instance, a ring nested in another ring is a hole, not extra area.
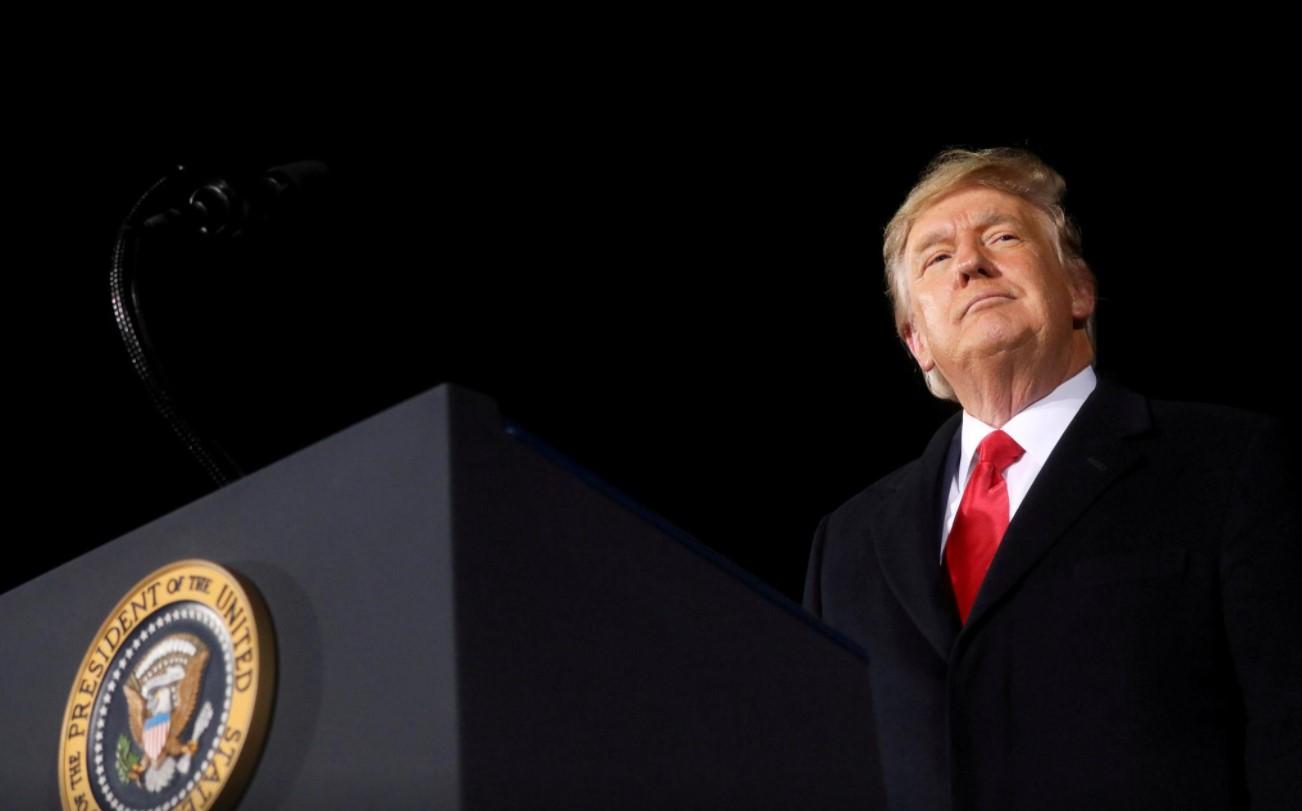
M 958 617 L 967 622 L 976 590 L 995 549 L 1008 530 L 1008 483 L 1004 470 L 1022 458 L 1022 447 L 1003 431 L 991 431 L 976 447 L 978 462 L 958 502 L 954 526 L 945 542 L 945 565 L 954 586 Z

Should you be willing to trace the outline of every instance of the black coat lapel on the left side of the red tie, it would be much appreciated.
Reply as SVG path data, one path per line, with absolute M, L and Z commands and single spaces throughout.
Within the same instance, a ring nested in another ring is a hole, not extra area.
M 936 431 L 872 527 L 887 583 L 945 661 L 960 625 L 949 579 L 940 565 L 941 493 L 949 443 L 961 423 L 960 411 Z

